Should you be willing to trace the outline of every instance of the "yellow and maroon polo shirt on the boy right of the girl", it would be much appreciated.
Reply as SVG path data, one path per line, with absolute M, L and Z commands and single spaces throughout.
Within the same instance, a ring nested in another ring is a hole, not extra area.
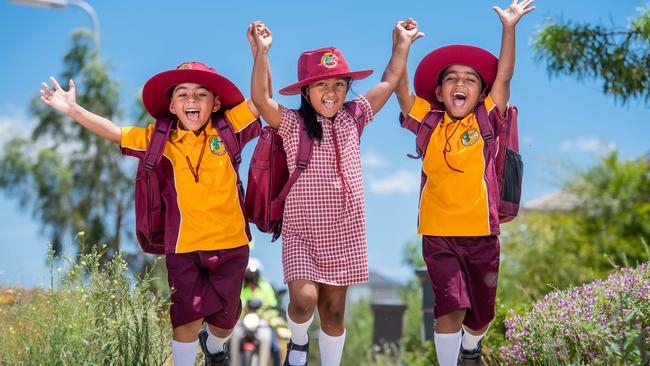
M 492 97 L 485 98 L 484 104 L 492 121 L 498 114 Z M 416 97 L 408 118 L 421 123 L 430 109 L 429 102 Z M 457 122 L 444 114 L 431 134 L 422 163 L 426 182 L 420 196 L 418 234 L 499 234 L 498 190 L 487 185 L 487 154 L 475 112 Z M 490 168 L 494 169 L 492 164 Z

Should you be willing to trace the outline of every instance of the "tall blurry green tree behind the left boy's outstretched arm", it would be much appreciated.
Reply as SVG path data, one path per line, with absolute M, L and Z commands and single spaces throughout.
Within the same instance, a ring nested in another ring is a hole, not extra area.
M 92 50 L 88 30 L 72 34 L 61 74 L 61 80 L 69 79 L 78 86 L 80 105 L 112 120 L 119 117 L 118 84 Z M 111 257 L 120 250 L 125 214 L 133 206 L 130 166 L 120 161 L 118 146 L 38 97 L 30 111 L 38 120 L 31 138 L 14 138 L 0 153 L 0 188 L 21 206 L 31 207 L 57 253 L 66 239 L 84 232 L 86 242 L 106 243 L 105 255 Z M 91 248 L 79 249 L 88 253 Z

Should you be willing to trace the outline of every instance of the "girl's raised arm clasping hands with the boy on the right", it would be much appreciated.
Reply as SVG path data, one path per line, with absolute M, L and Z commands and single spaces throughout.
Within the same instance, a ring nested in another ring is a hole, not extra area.
M 418 32 L 417 26 L 417 22 L 409 18 L 405 22 L 397 22 L 393 29 L 393 53 L 388 65 L 384 70 L 381 81 L 365 94 L 373 113 L 379 112 L 390 94 L 398 86 L 406 69 L 406 58 L 411 43 L 424 36 L 423 33 Z

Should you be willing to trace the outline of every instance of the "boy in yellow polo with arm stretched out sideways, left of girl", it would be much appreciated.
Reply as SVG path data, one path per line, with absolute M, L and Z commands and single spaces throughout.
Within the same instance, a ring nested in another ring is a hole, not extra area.
M 75 85 L 42 83 L 41 100 L 107 140 L 126 155 L 143 156 L 154 125 L 120 128 L 76 103 Z M 240 290 L 251 240 L 238 187 L 238 173 L 213 125 L 223 113 L 240 145 L 259 134 L 250 99 L 214 69 L 186 62 L 150 78 L 142 100 L 154 118 L 171 117 L 160 161 L 166 206 L 165 255 L 172 289 L 172 358 L 194 365 L 199 343 L 206 365 L 228 365 L 224 347 L 241 312 Z M 205 321 L 208 326 L 199 330 Z M 200 342 L 199 342 L 200 341 Z

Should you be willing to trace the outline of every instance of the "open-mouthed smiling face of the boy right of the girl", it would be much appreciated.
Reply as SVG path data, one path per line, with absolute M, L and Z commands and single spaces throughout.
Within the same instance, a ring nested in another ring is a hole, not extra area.
M 443 72 L 436 98 L 447 113 L 461 119 L 470 114 L 485 97 L 479 74 L 469 66 L 451 65 Z

